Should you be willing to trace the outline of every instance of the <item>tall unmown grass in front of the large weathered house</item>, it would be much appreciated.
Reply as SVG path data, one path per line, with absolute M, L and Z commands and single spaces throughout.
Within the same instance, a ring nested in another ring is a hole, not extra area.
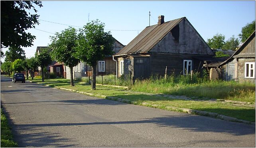
M 192 74 L 192 77 L 191 75 L 171 75 L 167 76 L 166 79 L 163 77 L 150 77 L 147 80 L 136 80 L 132 90 L 255 102 L 255 84 L 234 81 L 210 81 L 201 78 L 198 73 Z

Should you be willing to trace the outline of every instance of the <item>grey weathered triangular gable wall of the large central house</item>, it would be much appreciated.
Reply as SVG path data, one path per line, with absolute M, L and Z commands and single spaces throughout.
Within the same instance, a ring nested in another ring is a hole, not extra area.
M 210 47 L 197 33 L 195 28 L 187 19 L 182 20 L 161 41 L 159 41 L 151 52 L 176 53 L 176 54 L 199 54 L 214 55 Z

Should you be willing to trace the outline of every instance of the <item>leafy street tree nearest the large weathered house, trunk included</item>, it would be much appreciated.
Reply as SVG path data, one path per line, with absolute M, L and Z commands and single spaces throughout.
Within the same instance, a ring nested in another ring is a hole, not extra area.
M 96 89 L 97 60 L 112 55 L 113 44 L 114 38 L 110 31 L 104 32 L 104 23 L 100 23 L 98 19 L 87 23 L 80 30 L 76 56 L 92 67 L 92 90 Z

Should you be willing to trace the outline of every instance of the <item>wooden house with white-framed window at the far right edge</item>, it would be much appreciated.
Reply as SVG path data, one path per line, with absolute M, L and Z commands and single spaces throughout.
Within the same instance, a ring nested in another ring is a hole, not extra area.
M 239 49 L 219 66 L 223 79 L 255 83 L 255 31 Z

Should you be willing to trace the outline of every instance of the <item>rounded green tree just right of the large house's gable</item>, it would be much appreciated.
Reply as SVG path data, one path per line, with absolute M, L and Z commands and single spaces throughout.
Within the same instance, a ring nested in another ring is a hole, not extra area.
M 225 36 L 217 33 L 211 39 L 207 39 L 207 44 L 211 47 L 211 49 L 221 49 L 225 44 Z

